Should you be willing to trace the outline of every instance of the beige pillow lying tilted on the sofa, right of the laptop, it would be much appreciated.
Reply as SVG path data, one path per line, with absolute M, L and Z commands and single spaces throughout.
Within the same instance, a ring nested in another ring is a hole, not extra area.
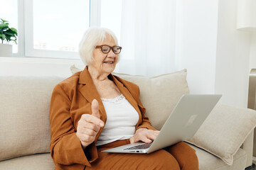
M 201 147 L 228 164 L 246 137 L 255 128 L 256 112 L 217 104 L 201 128 L 187 142 Z

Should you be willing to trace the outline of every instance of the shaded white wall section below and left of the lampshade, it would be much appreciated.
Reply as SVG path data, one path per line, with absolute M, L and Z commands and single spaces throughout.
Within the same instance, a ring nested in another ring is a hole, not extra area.
M 236 30 L 237 4 L 219 1 L 215 93 L 221 103 L 247 108 L 250 32 Z

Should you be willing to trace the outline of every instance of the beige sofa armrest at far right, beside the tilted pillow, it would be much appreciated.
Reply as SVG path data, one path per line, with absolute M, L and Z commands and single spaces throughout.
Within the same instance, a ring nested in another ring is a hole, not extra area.
M 254 131 L 252 130 L 241 147 L 247 154 L 247 162 L 245 167 L 252 166 L 253 133 Z

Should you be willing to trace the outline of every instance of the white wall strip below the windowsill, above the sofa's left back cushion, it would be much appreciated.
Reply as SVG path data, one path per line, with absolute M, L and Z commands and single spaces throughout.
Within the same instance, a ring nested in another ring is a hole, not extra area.
M 82 69 L 80 60 L 58 60 L 23 57 L 0 57 L 0 76 L 70 77 L 70 66 Z

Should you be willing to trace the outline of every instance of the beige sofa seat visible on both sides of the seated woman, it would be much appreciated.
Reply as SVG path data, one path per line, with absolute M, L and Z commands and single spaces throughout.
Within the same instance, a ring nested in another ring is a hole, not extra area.
M 243 149 L 238 149 L 234 156 L 232 166 L 225 164 L 221 159 L 213 154 L 205 152 L 203 149 L 190 145 L 196 150 L 199 161 L 200 170 L 241 170 L 244 169 L 246 163 L 246 153 Z M 53 170 L 55 165 L 50 157 L 50 153 L 33 154 L 25 157 L 8 159 L 0 162 L 0 169 L 20 169 L 20 170 Z

